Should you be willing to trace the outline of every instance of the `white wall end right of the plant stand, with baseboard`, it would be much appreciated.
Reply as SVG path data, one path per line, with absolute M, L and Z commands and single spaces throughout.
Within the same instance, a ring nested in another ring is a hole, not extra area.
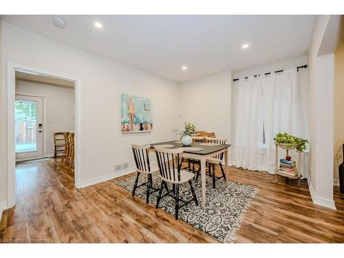
M 314 203 L 335 208 L 333 201 L 334 55 L 319 56 L 329 21 L 330 15 L 321 15 L 317 18 L 308 52 L 310 96 L 310 177 L 308 184 Z

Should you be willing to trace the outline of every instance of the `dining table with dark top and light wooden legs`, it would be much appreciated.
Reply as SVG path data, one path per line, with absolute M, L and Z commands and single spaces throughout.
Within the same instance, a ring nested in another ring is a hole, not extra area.
M 171 140 L 167 142 L 156 142 L 150 144 L 149 151 L 154 151 L 154 146 L 166 146 L 166 149 L 179 149 L 183 148 L 183 158 L 193 160 L 200 160 L 201 165 L 201 181 L 202 181 L 202 208 L 206 208 L 206 160 L 213 158 L 215 155 L 224 153 L 224 172 L 226 175 L 226 187 L 228 187 L 228 148 L 230 144 L 204 144 L 203 142 L 193 142 L 191 146 L 186 147 L 178 140 Z M 191 147 L 191 148 L 190 148 Z M 193 147 L 193 148 L 192 148 Z M 197 151 L 195 149 L 198 149 Z

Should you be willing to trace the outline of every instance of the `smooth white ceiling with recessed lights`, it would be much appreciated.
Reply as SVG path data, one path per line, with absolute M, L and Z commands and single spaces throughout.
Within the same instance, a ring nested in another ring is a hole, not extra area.
M 314 15 L 10 15 L 2 19 L 177 82 L 307 54 Z M 94 22 L 103 23 L 98 29 Z M 241 50 L 243 43 L 250 43 Z M 182 71 L 181 66 L 188 69 Z

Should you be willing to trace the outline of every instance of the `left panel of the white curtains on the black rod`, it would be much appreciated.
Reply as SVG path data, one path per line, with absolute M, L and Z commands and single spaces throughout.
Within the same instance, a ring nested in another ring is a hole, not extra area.
M 237 83 L 235 118 L 235 164 L 244 169 L 261 167 L 263 101 L 261 79 L 250 77 Z

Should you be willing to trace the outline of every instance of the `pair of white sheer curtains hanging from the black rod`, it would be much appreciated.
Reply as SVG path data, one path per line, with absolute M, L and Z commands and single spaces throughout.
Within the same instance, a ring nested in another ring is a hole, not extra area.
M 287 132 L 308 139 L 307 70 L 284 69 L 235 83 L 235 166 L 252 170 L 275 169 L 276 133 Z M 242 88 L 242 89 L 241 89 Z M 264 133 L 263 133 L 264 127 Z M 265 135 L 265 144 L 263 142 Z M 281 157 L 285 153 L 280 153 Z M 296 155 L 293 158 L 296 158 Z M 280 158 L 281 158 L 280 157 Z M 302 175 L 308 176 L 303 155 Z

